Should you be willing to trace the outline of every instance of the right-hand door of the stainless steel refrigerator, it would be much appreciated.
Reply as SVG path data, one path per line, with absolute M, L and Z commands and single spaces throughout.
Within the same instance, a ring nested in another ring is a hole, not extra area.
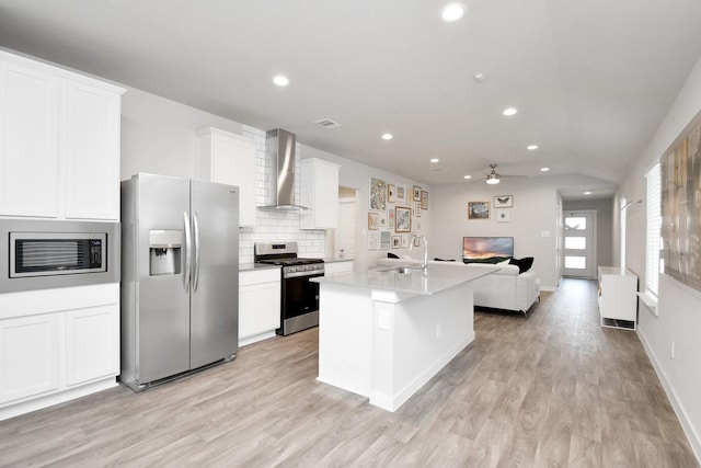
M 195 243 L 189 362 L 196 368 L 239 349 L 239 189 L 191 182 Z

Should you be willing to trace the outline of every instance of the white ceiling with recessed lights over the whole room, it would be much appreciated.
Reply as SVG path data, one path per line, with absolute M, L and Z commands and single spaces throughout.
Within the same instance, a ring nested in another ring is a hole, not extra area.
M 453 24 L 445 3 L 0 0 L 0 46 L 429 185 L 498 163 L 609 193 L 701 57 L 698 0 L 466 0 Z

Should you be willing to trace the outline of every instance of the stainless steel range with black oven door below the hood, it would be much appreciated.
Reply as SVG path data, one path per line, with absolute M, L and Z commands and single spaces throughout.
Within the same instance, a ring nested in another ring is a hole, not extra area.
M 253 260 L 281 266 L 280 328 L 277 334 L 288 335 L 319 324 L 319 283 L 309 279 L 324 275 L 322 259 L 297 256 L 298 244 L 256 242 Z

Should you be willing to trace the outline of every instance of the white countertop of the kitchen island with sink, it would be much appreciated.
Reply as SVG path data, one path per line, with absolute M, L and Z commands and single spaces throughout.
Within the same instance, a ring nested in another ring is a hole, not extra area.
M 380 266 L 365 272 L 344 273 L 333 276 L 319 276 L 310 281 L 320 284 L 336 284 L 369 289 L 386 289 L 398 293 L 432 295 L 462 283 L 476 279 L 496 272 L 498 269 L 464 265 L 456 269 L 445 265 L 428 265 L 428 271 L 412 270 L 399 273 L 398 266 Z

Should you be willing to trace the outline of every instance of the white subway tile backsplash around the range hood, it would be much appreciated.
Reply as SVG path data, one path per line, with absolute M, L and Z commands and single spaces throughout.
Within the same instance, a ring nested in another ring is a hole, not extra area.
M 265 132 L 243 126 L 243 136 L 256 142 L 255 203 L 257 206 L 272 204 L 274 194 L 269 193 L 268 181 L 273 174 L 273 161 L 265 152 Z M 300 184 L 300 147 L 297 145 L 295 162 L 295 199 L 299 199 Z M 298 212 L 268 212 L 257 209 L 255 227 L 239 229 L 239 262 L 253 262 L 253 244 L 255 242 L 295 240 L 299 244 L 300 256 L 324 256 L 323 230 L 300 230 Z

